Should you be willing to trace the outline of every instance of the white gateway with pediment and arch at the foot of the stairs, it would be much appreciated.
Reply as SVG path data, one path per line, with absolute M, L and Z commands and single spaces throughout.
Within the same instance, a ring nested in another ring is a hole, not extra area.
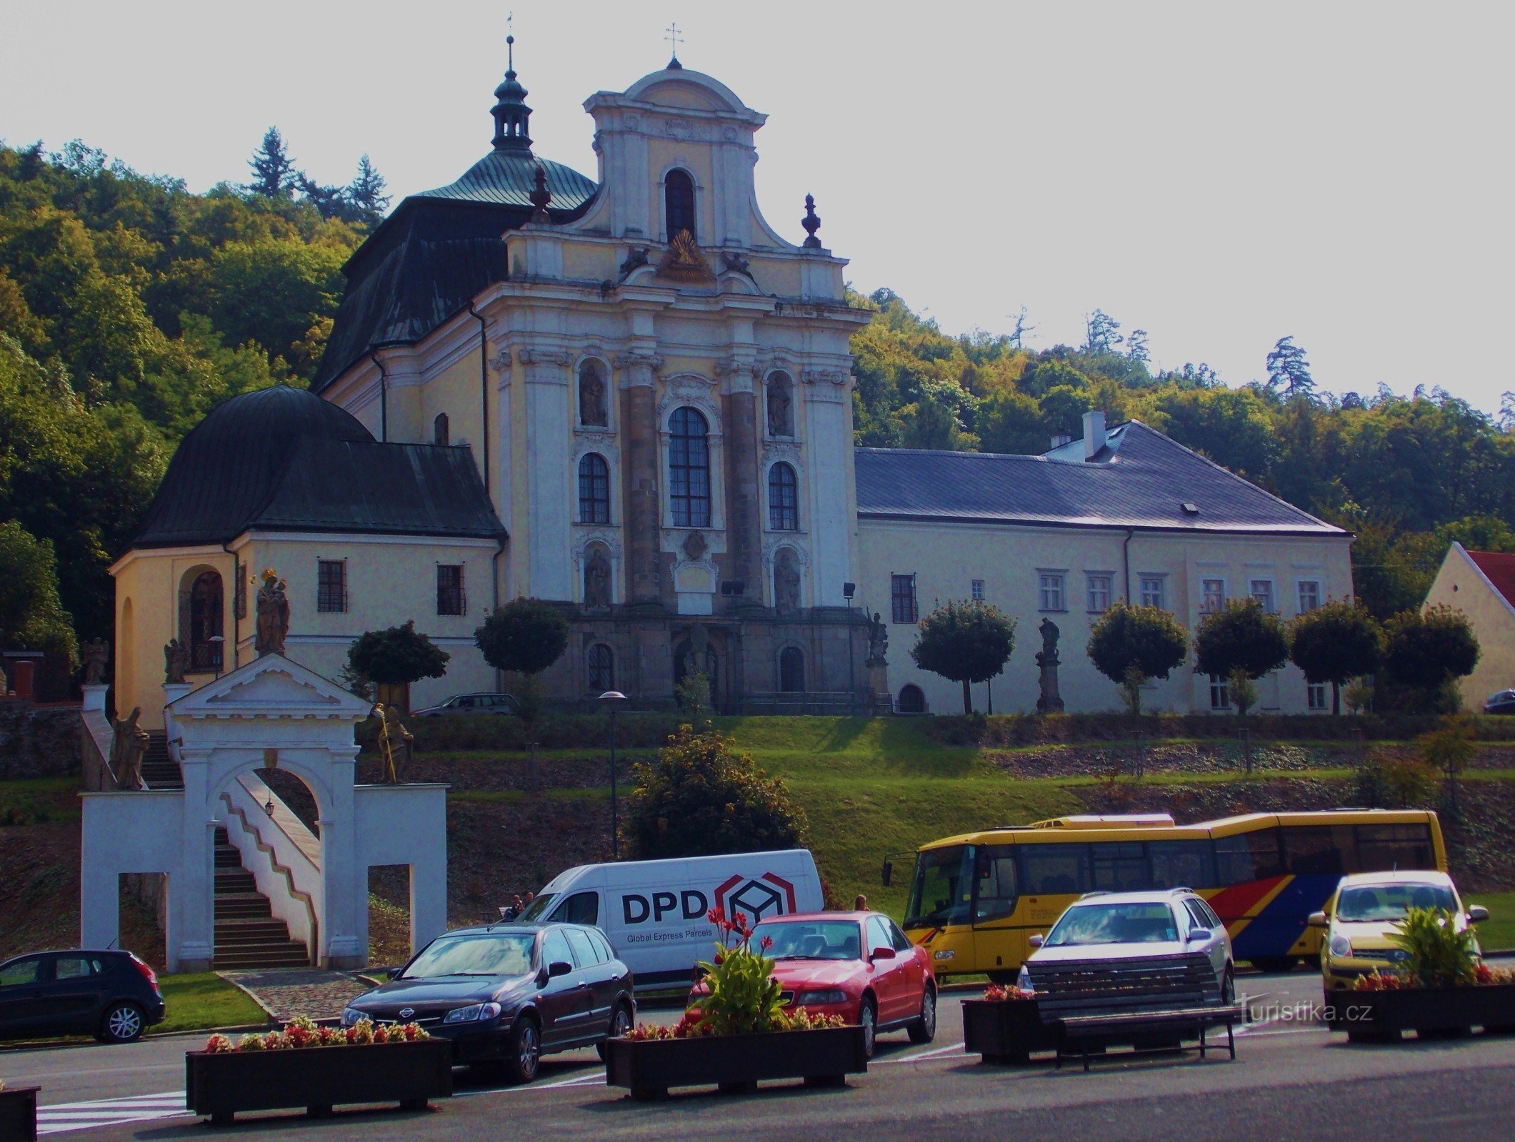
M 117 945 L 120 874 L 158 872 L 168 971 L 211 969 L 221 827 L 312 963 L 367 965 L 371 865 L 411 866 L 412 951 L 445 931 L 447 786 L 356 785 L 356 727 L 371 710 L 280 654 L 173 697 L 164 721 L 183 789 L 82 795 L 82 947 Z M 255 774 L 271 768 L 309 788 L 315 833 Z

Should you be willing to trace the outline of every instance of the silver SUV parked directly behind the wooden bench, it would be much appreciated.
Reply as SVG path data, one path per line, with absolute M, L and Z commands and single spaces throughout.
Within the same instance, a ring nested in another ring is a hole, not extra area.
M 1186 888 L 1165 892 L 1091 892 L 1051 931 L 1032 936 L 1018 986 L 1036 992 L 1150 992 L 1230 1006 L 1236 969 L 1226 925 Z

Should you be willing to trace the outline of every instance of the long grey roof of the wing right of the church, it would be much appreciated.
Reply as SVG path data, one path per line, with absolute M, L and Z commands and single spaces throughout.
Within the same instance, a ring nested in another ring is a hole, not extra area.
M 1141 421 L 1094 460 L 857 448 L 862 520 L 1345 536 Z M 1198 507 L 1197 513 L 1183 504 Z

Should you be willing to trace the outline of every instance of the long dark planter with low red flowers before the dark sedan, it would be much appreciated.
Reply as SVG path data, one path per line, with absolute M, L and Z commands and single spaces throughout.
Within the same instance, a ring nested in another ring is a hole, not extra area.
M 415 1024 L 317 1027 L 298 1018 L 283 1030 L 232 1044 L 212 1034 L 185 1054 L 185 1103 L 226 1124 L 239 1110 L 305 1107 L 329 1113 L 341 1103 L 398 1103 L 420 1110 L 453 1094 L 453 1045 Z

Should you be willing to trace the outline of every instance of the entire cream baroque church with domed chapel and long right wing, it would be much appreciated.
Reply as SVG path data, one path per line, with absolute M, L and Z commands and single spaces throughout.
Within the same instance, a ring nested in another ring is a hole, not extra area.
M 1091 415 L 1042 456 L 854 448 L 870 315 L 809 200 L 798 242 L 759 209 L 765 117 L 674 59 L 585 101 L 589 179 L 536 154 L 526 95 L 512 67 L 488 153 L 351 256 L 311 392 L 245 394 L 186 436 L 112 568 L 120 709 L 153 724 L 168 638 L 192 683 L 250 660 L 264 568 L 289 656 L 326 677 L 364 630 L 414 619 L 442 645 L 412 704 L 501 685 L 471 635 L 515 597 L 570 618 L 554 700 L 668 704 L 700 669 L 726 710 L 841 712 L 959 707 L 907 654 L 947 598 L 1020 619 L 1014 677 L 976 701 L 1030 710 L 1039 619 L 1067 707 L 1110 709 L 1083 642 L 1114 600 L 1192 629 L 1227 592 L 1280 613 L 1350 595 L 1348 535 L 1136 423 Z M 1265 688 L 1312 701 L 1286 671 Z M 1223 709 L 1188 676 L 1147 704 Z

